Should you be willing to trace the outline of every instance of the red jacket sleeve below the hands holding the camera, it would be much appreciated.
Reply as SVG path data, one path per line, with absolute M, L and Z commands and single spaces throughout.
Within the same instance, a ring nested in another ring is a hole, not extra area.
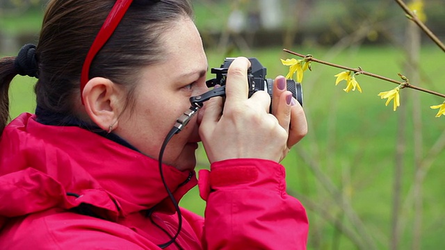
M 286 193 L 284 167 L 270 160 L 231 159 L 200 171 L 207 201 L 206 249 L 306 249 L 308 221 Z

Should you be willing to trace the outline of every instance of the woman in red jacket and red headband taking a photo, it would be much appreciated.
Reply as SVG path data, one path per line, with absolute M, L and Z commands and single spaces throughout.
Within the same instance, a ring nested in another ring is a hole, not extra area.
M 279 162 L 307 126 L 282 76 L 270 114 L 236 58 L 225 102 L 207 101 L 158 167 L 208 91 L 192 15 L 186 0 L 52 0 L 38 46 L 0 60 L 0 249 L 305 249 Z M 37 108 L 6 126 L 17 74 L 38 78 Z M 175 202 L 197 184 L 201 140 L 204 218 Z

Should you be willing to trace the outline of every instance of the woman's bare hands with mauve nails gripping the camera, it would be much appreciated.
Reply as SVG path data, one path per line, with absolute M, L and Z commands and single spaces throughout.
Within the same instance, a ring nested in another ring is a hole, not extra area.
M 232 158 L 261 158 L 280 162 L 307 133 L 300 104 L 286 91 L 286 80 L 275 78 L 272 114 L 267 92 L 248 98 L 247 58 L 229 67 L 226 99 L 214 97 L 204 105 L 200 137 L 210 163 Z

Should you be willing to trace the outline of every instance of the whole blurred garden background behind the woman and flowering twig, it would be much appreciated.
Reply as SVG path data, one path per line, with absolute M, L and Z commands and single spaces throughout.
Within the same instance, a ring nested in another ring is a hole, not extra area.
M 445 92 L 445 54 L 389 0 L 193 0 L 209 67 L 225 57 L 256 57 L 268 78 L 287 74 L 282 49 L 362 67 Z M 423 3 L 426 25 L 445 40 L 444 0 Z M 0 56 L 36 42 L 47 0 L 0 0 Z M 308 135 L 283 161 L 288 192 L 309 217 L 309 249 L 442 249 L 445 244 L 444 99 L 401 90 L 401 106 L 378 97 L 397 85 L 359 75 L 363 92 L 335 85 L 342 69 L 312 63 L 305 72 Z M 211 78 L 209 73 L 209 78 Z M 35 108 L 35 79 L 11 85 L 11 118 Z M 261 136 L 261 131 L 258 131 Z M 223 150 L 223 149 L 222 149 Z M 198 169 L 209 167 L 198 151 Z M 181 205 L 204 215 L 197 189 Z

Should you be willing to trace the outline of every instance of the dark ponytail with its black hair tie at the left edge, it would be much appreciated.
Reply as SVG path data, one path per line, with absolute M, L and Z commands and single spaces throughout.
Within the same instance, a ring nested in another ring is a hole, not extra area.
M 17 76 L 38 77 L 38 63 L 35 56 L 35 45 L 26 44 L 19 55 L 0 59 L 0 137 L 9 115 L 9 85 Z

